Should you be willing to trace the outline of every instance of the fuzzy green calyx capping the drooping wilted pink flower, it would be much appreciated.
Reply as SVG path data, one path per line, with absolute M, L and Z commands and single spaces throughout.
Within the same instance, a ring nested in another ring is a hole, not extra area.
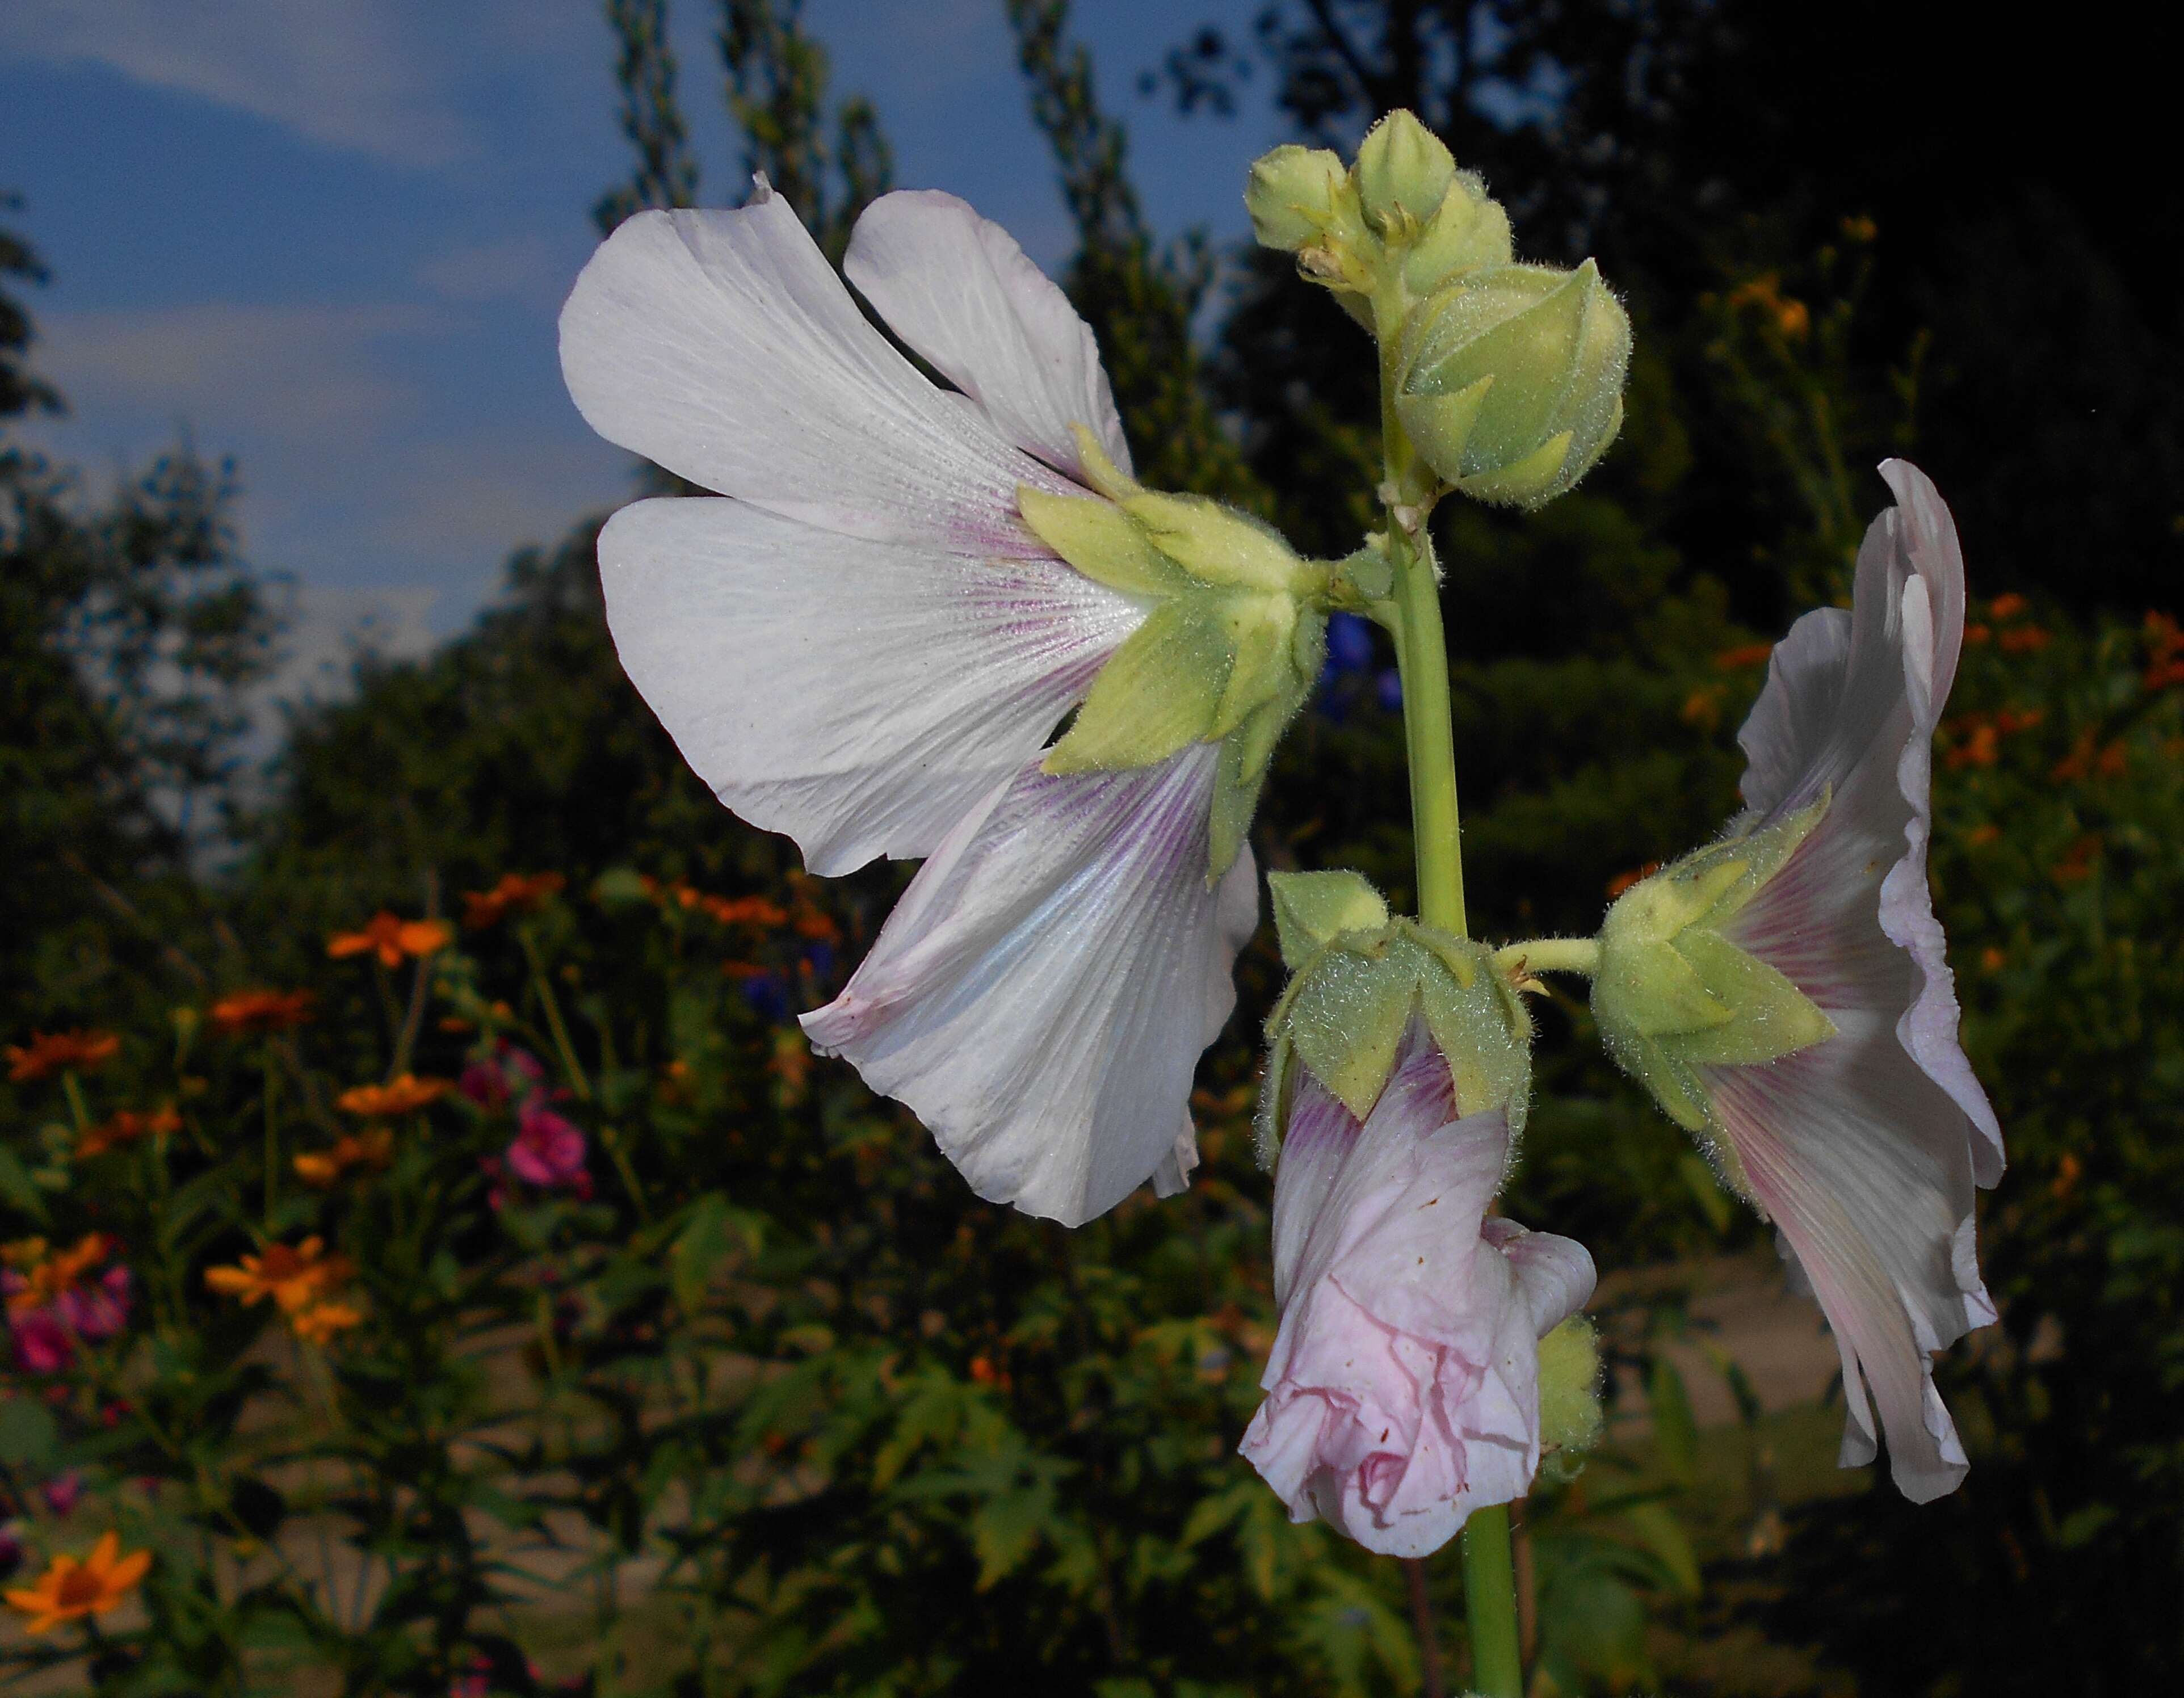
M 1380 1100 L 1411 1017 L 1448 1059 L 1457 1113 L 1507 1109 L 1511 1148 L 1531 1104 L 1531 1015 L 1470 938 L 1391 919 L 1356 873 L 1271 873 L 1282 958 L 1302 962 L 1267 1019 L 1260 1152 L 1308 1067 L 1358 1120 Z

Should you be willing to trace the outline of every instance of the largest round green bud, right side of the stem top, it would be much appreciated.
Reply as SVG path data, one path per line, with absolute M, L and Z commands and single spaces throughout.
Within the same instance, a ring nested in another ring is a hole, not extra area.
M 1629 351 L 1629 319 L 1592 260 L 1481 266 L 1404 325 L 1396 412 L 1465 495 L 1540 506 L 1623 428 Z

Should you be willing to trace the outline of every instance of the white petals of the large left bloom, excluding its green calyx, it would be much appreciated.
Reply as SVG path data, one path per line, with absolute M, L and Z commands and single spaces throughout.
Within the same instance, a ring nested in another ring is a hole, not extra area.
M 1256 873 L 1245 849 L 1208 880 L 1212 744 L 1040 770 L 1153 607 L 1020 515 L 1020 489 L 1101 500 L 1072 426 L 1129 469 L 1092 332 L 948 194 L 876 201 L 843 268 L 954 391 L 764 181 L 736 212 L 638 214 L 583 268 L 561 312 L 583 417 L 719 491 L 607 522 L 607 622 L 697 773 L 815 873 L 933 858 L 806 1024 L 981 1196 L 1081 1222 L 1192 1165 L 1190 1074 Z

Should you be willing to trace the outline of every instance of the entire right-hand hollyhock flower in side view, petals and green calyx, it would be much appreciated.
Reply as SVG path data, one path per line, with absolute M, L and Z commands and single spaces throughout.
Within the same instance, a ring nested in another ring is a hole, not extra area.
M 1616 899 L 1592 1002 L 1819 1299 L 1843 1467 L 1874 1458 L 1878 1410 L 1896 1484 L 1926 1502 L 1966 1471 L 1931 1358 L 1994 1320 L 1972 1192 L 2001 1179 L 2003 1141 L 1926 888 L 1963 561 L 1926 476 L 1880 474 L 1898 504 L 1865 537 L 1852 609 L 1791 626 L 1738 736 L 1745 812 Z

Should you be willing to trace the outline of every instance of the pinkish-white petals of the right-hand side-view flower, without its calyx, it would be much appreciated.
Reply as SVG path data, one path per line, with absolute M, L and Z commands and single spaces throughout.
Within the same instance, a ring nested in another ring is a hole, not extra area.
M 1780 971 L 1835 1035 L 1699 1078 L 1732 1181 L 1773 1220 L 1843 1355 L 1843 1467 L 1889 1467 L 1915 1502 L 1966 1471 L 1933 1353 L 1994 1320 L 1972 1189 L 2003 1137 L 1957 1043 L 1957 993 L 1926 888 L 1933 729 L 1963 639 L 1957 526 L 1922 471 L 1880 467 L 1896 506 L 1859 552 L 1852 609 L 1806 613 L 1776 646 L 1738 742 L 1730 836 L 1828 799 L 1721 936 Z M 1870 1392 L 1870 1399 L 1867 1399 Z

